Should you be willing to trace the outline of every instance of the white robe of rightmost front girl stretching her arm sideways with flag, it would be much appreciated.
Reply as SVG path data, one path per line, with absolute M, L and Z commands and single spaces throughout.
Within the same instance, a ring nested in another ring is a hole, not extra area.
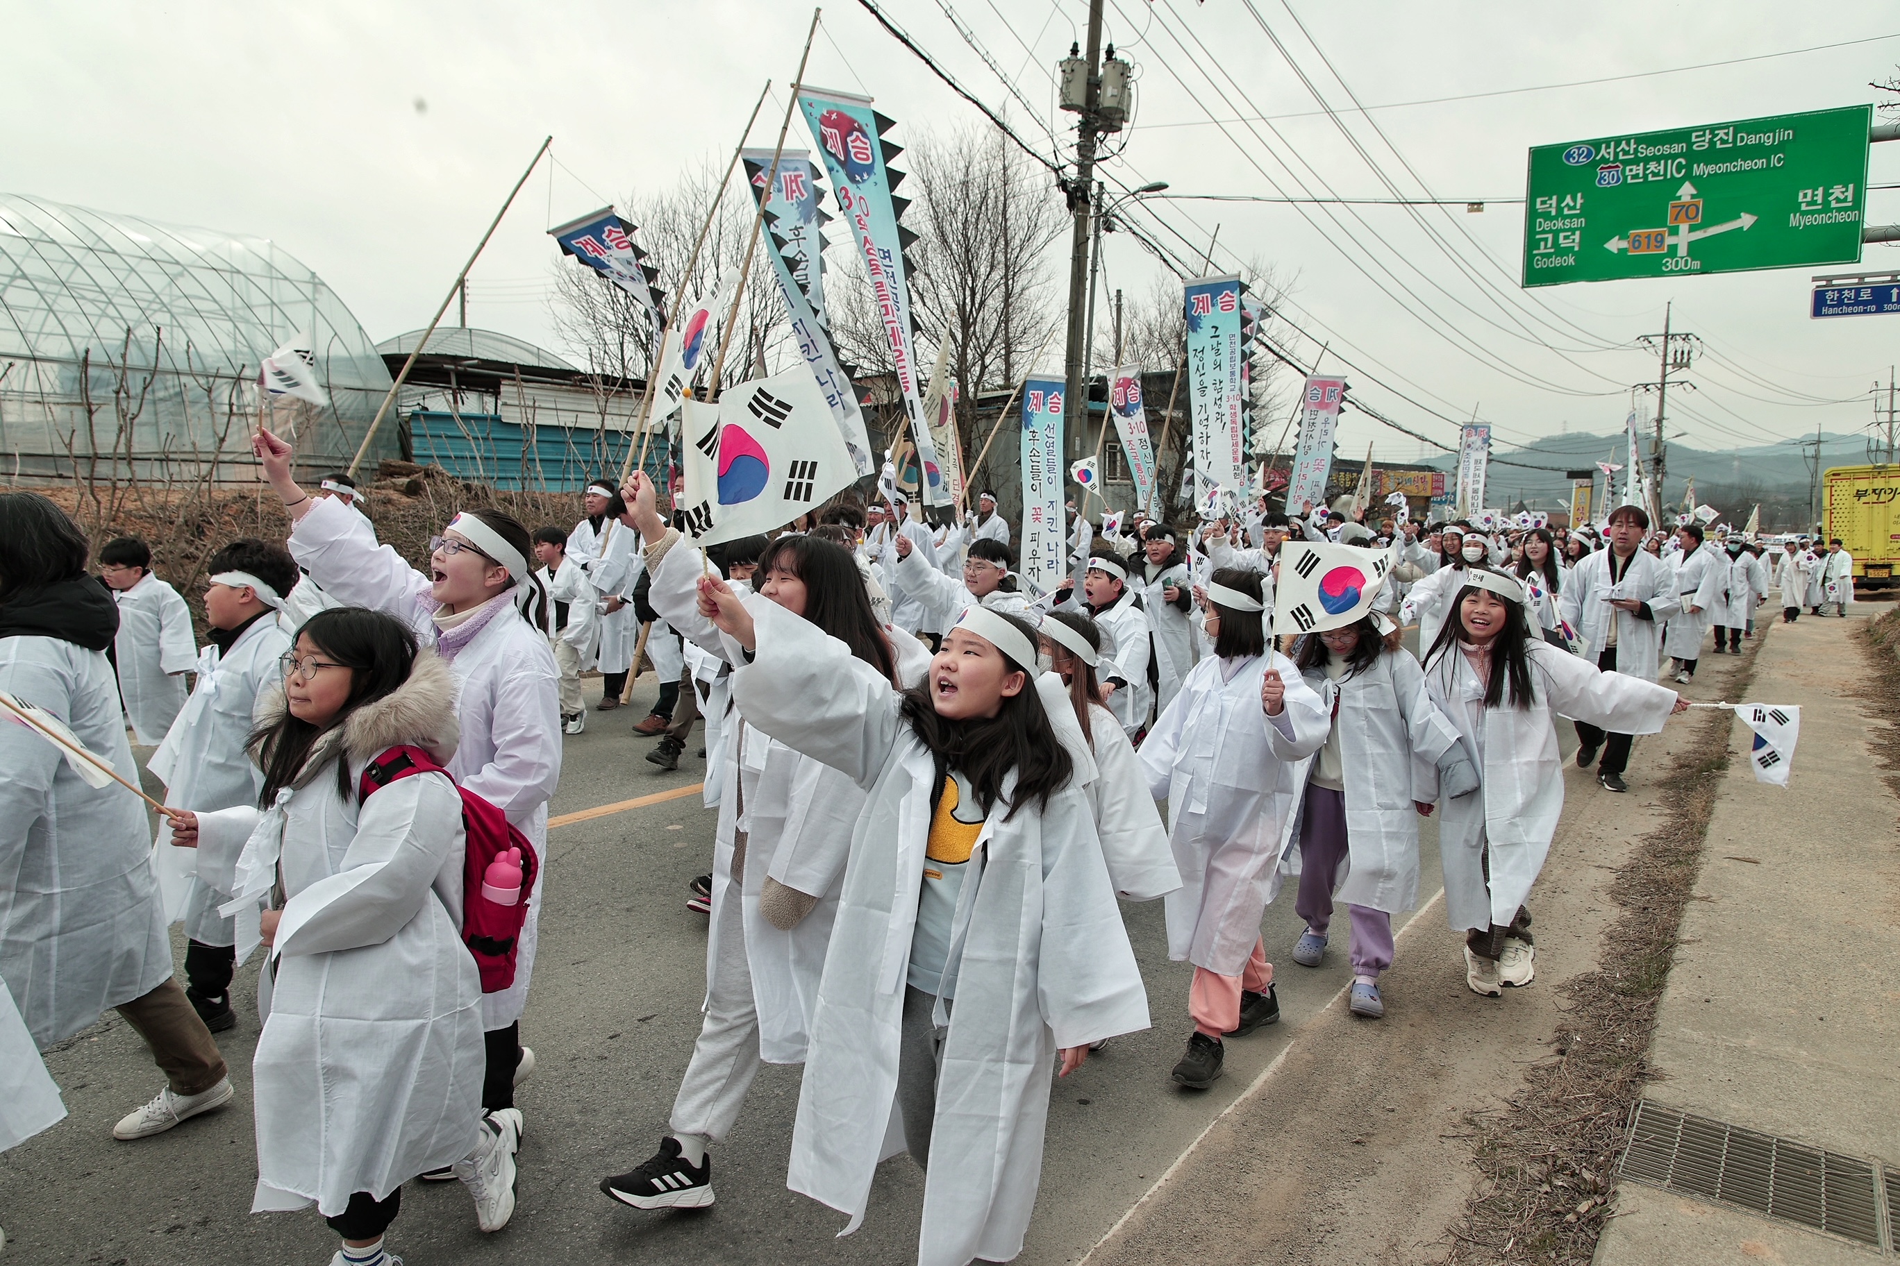
M 1440 807 L 1444 907 L 1457 930 L 1509 926 L 1543 869 L 1564 812 L 1556 717 L 1617 735 L 1655 735 L 1676 706 L 1676 691 L 1634 674 L 1598 672 L 1586 659 L 1545 642 L 1528 642 L 1526 653 L 1531 657 L 1531 700 L 1522 708 L 1509 704 L 1509 687 L 1507 702 L 1484 708 L 1484 683 L 1457 643 L 1425 664 L 1433 702 L 1478 761 L 1480 788 Z M 1436 771 L 1423 790 L 1431 795 L 1421 799 L 1438 799 Z

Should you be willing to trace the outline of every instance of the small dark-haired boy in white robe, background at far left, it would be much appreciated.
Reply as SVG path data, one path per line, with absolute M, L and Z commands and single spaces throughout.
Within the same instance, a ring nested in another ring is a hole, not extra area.
M 112 640 L 120 700 L 133 738 L 150 748 L 165 738 L 184 706 L 184 674 L 198 662 L 192 611 L 179 590 L 152 575 L 152 550 L 139 537 L 104 543 L 99 579 L 120 609 Z

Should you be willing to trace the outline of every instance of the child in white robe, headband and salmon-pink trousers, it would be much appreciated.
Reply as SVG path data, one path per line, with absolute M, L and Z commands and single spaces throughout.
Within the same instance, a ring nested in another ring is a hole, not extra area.
M 1182 886 L 1167 898 L 1168 957 L 1195 964 L 1193 1033 L 1174 1080 L 1206 1089 L 1222 1038 L 1279 1019 L 1260 917 L 1281 886 L 1302 767 L 1330 719 L 1294 662 L 1267 647 L 1260 575 L 1214 571 L 1203 626 L 1214 653 L 1142 742 L 1148 790 L 1168 801 Z

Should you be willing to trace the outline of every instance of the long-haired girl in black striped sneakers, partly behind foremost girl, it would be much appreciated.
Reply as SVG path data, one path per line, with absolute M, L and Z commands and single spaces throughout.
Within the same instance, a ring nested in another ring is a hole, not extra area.
M 635 475 L 631 520 L 646 545 L 652 604 L 669 624 L 726 662 L 732 653 L 699 613 L 699 581 L 716 577 L 699 550 L 654 509 Z M 811 535 L 783 535 L 758 556 L 764 600 L 851 643 L 859 662 L 901 681 L 893 640 L 878 628 L 851 554 Z M 922 651 L 916 638 L 897 634 Z M 673 1099 L 669 1133 L 600 1192 L 635 1209 L 703 1209 L 714 1201 L 709 1145 L 739 1118 L 760 1063 L 806 1057 L 819 974 L 838 917 L 851 826 L 864 791 L 851 778 L 747 723 L 726 717 L 707 928 L 705 1021 Z

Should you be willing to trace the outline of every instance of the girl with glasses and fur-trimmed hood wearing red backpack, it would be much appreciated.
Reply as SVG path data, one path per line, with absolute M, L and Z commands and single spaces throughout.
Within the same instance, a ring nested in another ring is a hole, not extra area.
M 348 507 L 334 503 L 338 514 Z M 353 514 L 352 514 L 353 516 Z M 270 903 L 253 1057 L 253 1213 L 317 1205 L 352 1262 L 382 1260 L 408 1179 L 458 1165 L 483 1230 L 513 1213 L 519 1122 L 481 1120 L 481 977 L 462 943 L 462 797 L 443 773 L 363 795 L 393 746 L 446 763 L 456 680 L 399 621 L 323 611 L 298 632 L 294 668 L 262 708 L 256 803 L 186 814 L 173 839 L 207 883 Z M 228 841 L 243 839 L 232 854 Z

